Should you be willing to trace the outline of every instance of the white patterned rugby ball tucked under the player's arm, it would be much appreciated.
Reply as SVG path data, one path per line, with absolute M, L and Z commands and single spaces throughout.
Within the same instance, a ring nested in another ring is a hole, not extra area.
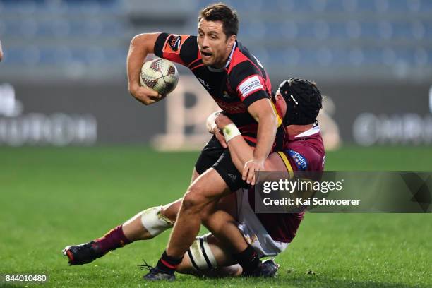
M 179 71 L 172 61 L 156 58 L 141 68 L 140 85 L 157 91 L 160 95 L 172 92 L 179 82 Z

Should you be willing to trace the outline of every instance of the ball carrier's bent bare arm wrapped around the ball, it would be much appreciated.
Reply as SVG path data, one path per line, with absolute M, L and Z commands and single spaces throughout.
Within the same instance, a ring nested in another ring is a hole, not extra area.
M 127 71 L 128 89 L 134 97 L 136 97 L 134 91 L 140 87 L 141 66 L 143 66 L 147 55 L 154 52 L 155 42 L 159 35 L 160 33 L 140 34 L 131 40 L 127 57 Z

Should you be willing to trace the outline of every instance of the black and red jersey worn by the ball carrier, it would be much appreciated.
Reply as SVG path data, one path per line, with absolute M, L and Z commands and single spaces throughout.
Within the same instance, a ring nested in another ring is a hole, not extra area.
M 224 68 L 203 64 L 197 37 L 161 33 L 155 55 L 189 68 L 246 140 L 256 143 L 258 123 L 248 113 L 253 102 L 271 100 L 272 85 L 260 61 L 236 41 Z M 280 115 L 278 114 L 279 124 Z

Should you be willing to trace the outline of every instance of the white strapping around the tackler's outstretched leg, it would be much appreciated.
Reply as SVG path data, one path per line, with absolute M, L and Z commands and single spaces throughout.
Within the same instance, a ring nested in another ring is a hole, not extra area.
M 174 222 L 162 215 L 161 210 L 162 206 L 152 207 L 144 210 L 141 215 L 143 227 L 153 237 L 174 226 Z

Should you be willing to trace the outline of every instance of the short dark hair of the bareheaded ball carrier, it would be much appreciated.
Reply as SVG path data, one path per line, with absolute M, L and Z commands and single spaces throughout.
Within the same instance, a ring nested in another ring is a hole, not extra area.
M 216 3 L 203 8 L 198 16 L 198 22 L 203 18 L 207 21 L 221 21 L 224 34 L 227 37 L 237 35 L 239 32 L 239 16 L 227 4 Z

